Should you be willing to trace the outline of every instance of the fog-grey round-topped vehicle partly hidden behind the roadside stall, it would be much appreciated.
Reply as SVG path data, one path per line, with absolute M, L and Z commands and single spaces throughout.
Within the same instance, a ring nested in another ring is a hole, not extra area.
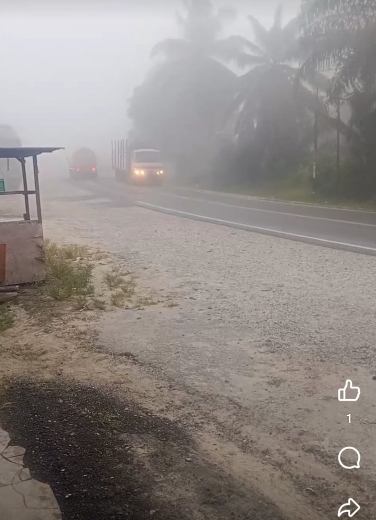
M 9 125 L 0 125 L 0 148 L 19 148 L 21 140 Z M 5 191 L 18 191 L 22 183 L 21 163 L 17 159 L 0 159 L 1 187 Z

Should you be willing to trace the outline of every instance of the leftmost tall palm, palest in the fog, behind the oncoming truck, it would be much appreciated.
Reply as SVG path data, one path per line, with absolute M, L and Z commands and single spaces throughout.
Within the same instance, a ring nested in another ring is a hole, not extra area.
M 210 0 L 186 0 L 185 6 L 187 15 L 177 17 L 183 38 L 154 46 L 151 55 L 164 60 L 135 90 L 128 115 L 138 133 L 151 134 L 174 161 L 180 158 L 180 170 L 192 172 L 207 160 L 236 75 L 212 57 L 221 22 L 231 11 L 216 12 Z

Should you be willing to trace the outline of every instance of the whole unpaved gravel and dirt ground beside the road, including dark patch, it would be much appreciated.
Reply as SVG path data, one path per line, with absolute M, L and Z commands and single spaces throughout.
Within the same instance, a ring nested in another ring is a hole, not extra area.
M 64 518 L 323 520 L 349 497 L 373 517 L 374 259 L 65 189 L 46 236 L 107 251 L 95 273 L 131 270 L 136 295 L 35 311 L 26 293 L 0 339 L 2 420 Z

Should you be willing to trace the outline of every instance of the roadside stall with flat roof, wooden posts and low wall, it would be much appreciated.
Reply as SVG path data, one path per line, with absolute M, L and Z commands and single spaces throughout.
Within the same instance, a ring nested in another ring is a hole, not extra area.
M 17 159 L 21 163 L 23 188 L 19 191 L 6 191 L 4 183 L 0 183 L 0 196 L 23 196 L 25 209 L 23 220 L 0 222 L 0 287 L 36 282 L 46 278 L 37 156 L 62 149 L 0 148 L 0 159 Z M 28 189 L 26 172 L 26 159 L 29 157 L 33 161 L 34 189 L 32 190 Z M 30 216 L 31 195 L 35 196 L 36 219 Z

